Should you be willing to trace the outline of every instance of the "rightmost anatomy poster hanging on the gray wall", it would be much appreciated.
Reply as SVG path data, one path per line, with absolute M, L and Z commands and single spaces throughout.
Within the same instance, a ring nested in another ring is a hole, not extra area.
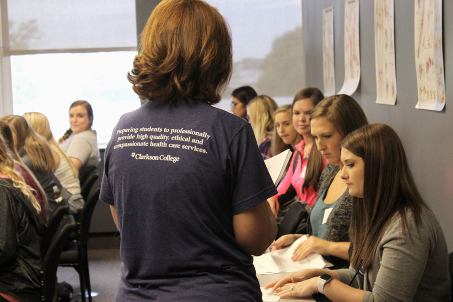
M 442 0 L 415 0 L 415 67 L 417 109 L 445 106 L 442 53 Z

